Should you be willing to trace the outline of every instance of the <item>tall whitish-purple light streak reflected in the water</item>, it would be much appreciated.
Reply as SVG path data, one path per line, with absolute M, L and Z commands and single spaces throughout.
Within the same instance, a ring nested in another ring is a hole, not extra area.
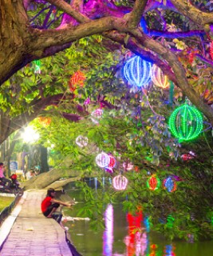
M 113 243 L 113 207 L 111 204 L 105 210 L 105 232 L 103 235 L 103 255 L 112 256 Z

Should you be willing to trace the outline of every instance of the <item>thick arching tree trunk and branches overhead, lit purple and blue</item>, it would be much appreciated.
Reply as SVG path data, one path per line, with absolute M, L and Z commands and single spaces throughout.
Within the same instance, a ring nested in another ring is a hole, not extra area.
M 44 5 L 45 9 L 42 9 Z M 206 3 L 206 5 L 205 5 Z M 32 6 L 34 4 L 34 6 Z M 37 8 L 37 4 L 41 7 Z M 133 53 L 155 62 L 183 90 L 183 94 L 203 112 L 211 124 L 213 110 L 189 85 L 187 72 L 179 61 L 177 53 L 160 42 L 160 38 L 195 38 L 199 54 L 194 54 L 205 66 L 212 66 L 207 54 L 213 14 L 207 2 L 183 0 L 128 1 L 128 6 L 114 1 L 22 1 L 0 2 L 1 21 L 1 66 L 0 82 L 8 78 L 27 63 L 45 58 L 68 48 L 72 42 L 92 34 L 103 34 L 114 42 L 119 42 Z M 159 11 L 160 8 L 160 11 Z M 61 10 L 65 14 L 61 18 Z M 40 12 L 39 12 L 40 11 Z M 37 12 L 37 15 L 35 15 Z M 56 13 L 56 15 L 54 15 Z M 167 15 L 176 14 L 176 31 L 166 29 Z M 40 18 L 45 14 L 45 18 Z M 199 14 L 199 15 L 198 15 Z M 153 16 L 156 15 L 156 18 Z M 38 17 L 38 21 L 36 18 Z M 141 18 L 147 23 L 148 34 L 139 26 Z M 182 24 L 179 24 L 180 20 Z M 157 22 L 160 21 L 160 22 Z M 54 26 L 53 26 L 54 22 Z M 162 26 L 160 24 L 163 24 Z M 158 26 L 155 27 L 156 23 Z M 13 26 L 12 26 L 13 24 Z M 181 30 L 179 30 L 179 27 Z M 183 29 L 185 26 L 186 29 Z M 195 29 L 194 29 L 195 28 Z M 161 29 L 161 31 L 159 31 Z M 156 31 L 158 30 L 158 31 Z M 168 40 L 169 41 L 169 40 Z M 193 50 L 189 50 L 193 55 Z

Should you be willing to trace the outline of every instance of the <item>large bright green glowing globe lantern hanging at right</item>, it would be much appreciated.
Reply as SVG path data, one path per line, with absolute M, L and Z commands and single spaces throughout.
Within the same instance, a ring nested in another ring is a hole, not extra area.
M 181 141 L 190 141 L 203 130 L 203 116 L 194 106 L 183 104 L 173 111 L 169 118 L 172 134 Z

